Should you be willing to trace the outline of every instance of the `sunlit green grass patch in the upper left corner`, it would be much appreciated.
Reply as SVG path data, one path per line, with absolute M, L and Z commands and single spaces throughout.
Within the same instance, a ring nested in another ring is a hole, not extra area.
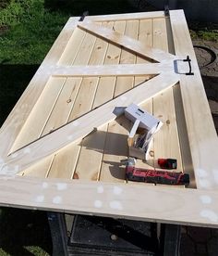
M 0 38 L 0 63 L 41 63 L 68 17 L 44 9 L 40 0 L 11 1 L 0 12 L 0 26 L 6 31 Z

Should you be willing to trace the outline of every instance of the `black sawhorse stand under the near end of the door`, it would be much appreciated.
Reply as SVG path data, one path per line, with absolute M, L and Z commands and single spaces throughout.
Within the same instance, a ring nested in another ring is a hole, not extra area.
M 179 255 L 180 226 L 48 212 L 54 256 Z

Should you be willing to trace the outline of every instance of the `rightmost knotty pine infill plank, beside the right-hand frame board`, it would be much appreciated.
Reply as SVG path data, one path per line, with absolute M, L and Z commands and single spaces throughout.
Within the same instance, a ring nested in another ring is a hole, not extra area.
M 153 47 L 168 51 L 165 19 L 153 19 Z M 169 38 L 171 40 L 171 38 Z M 177 171 L 183 171 L 176 125 L 173 88 L 153 97 L 153 114 L 163 122 L 162 128 L 154 135 L 154 159 L 173 158 L 177 160 Z

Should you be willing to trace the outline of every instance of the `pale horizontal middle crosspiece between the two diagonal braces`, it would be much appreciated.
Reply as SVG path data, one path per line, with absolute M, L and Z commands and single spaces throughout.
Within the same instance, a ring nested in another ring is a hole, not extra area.
M 173 71 L 174 62 L 165 60 L 162 63 L 119 64 L 119 65 L 87 65 L 87 66 L 56 66 L 51 69 L 53 76 L 132 76 L 160 74 Z

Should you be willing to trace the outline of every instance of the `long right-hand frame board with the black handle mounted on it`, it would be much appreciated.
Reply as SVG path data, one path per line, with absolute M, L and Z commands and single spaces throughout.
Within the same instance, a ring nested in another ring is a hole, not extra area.
M 180 75 L 180 88 L 188 129 L 188 143 L 198 188 L 217 189 L 218 139 L 200 77 L 188 25 L 182 10 L 170 12 L 178 58 L 191 58 L 194 75 Z M 191 86 L 190 86 L 191 84 Z

